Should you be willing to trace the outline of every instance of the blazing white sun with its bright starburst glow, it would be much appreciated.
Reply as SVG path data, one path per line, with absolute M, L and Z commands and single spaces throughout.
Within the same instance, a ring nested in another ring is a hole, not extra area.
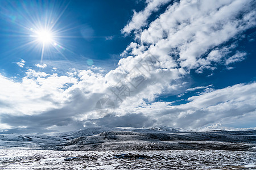
M 69 3 L 62 1 L 60 3 L 50 2 L 46 0 L 45 3 L 35 3 L 35 5 L 38 5 L 38 9 L 35 8 L 36 11 L 24 14 L 26 22 L 19 25 L 26 31 L 22 36 L 27 36 L 27 43 L 22 46 L 29 45 L 28 49 L 34 49 L 38 54 L 41 53 L 40 64 L 42 64 L 44 56 L 51 57 L 60 54 L 66 58 L 64 53 L 69 50 L 67 48 L 69 41 L 64 39 L 73 38 L 73 36 L 67 34 L 74 28 L 71 25 L 67 26 L 64 20 L 66 16 L 64 12 Z M 41 13 L 40 11 L 46 12 Z

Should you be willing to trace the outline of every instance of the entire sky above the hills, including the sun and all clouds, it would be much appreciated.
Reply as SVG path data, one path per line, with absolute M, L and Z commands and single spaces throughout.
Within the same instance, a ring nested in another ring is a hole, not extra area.
M 2 132 L 256 127 L 254 1 L 0 6 Z

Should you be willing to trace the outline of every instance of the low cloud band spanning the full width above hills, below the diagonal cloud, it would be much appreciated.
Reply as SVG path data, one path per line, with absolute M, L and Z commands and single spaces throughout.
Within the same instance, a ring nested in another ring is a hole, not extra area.
M 33 71 L 34 72 L 34 71 Z M 193 96 L 187 104 L 172 102 L 143 103 L 138 107 L 138 96 L 123 101 L 114 113 L 97 113 L 95 104 L 108 90 L 105 78 L 90 70 L 79 70 L 78 78 L 48 74 L 27 75 L 21 83 L 0 76 L 1 124 L 16 128 L 52 128 L 69 126 L 176 126 L 199 128 L 216 122 L 228 122 L 230 117 L 246 117 L 255 113 L 256 83 L 237 84 Z M 71 84 L 71 86 L 65 86 Z M 104 85 L 105 84 L 105 85 Z M 3 87 L 4 86 L 4 87 Z M 196 87 L 202 89 L 205 87 Z M 12 94 L 10 99 L 10 94 Z M 145 95 L 145 94 L 144 94 Z M 114 99 L 113 99 L 114 100 Z

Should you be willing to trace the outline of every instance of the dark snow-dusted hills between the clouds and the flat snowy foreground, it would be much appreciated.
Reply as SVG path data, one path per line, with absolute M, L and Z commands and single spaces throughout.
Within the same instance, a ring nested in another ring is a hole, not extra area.
M 86 128 L 55 134 L 2 134 L 0 148 L 44 150 L 256 150 L 256 130 L 192 131 L 160 128 Z

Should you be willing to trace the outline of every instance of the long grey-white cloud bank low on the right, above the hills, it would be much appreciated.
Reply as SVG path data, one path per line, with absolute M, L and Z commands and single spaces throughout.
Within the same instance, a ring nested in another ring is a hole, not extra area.
M 172 105 L 156 102 L 131 109 L 133 113 L 144 113 L 155 125 L 184 128 L 200 128 L 221 123 L 246 124 L 248 118 L 256 118 L 256 83 L 236 84 L 207 94 L 193 96 L 187 104 Z M 127 108 L 123 108 L 122 112 Z M 240 118 L 243 117 L 241 120 Z M 251 126 L 255 126 L 251 124 Z

